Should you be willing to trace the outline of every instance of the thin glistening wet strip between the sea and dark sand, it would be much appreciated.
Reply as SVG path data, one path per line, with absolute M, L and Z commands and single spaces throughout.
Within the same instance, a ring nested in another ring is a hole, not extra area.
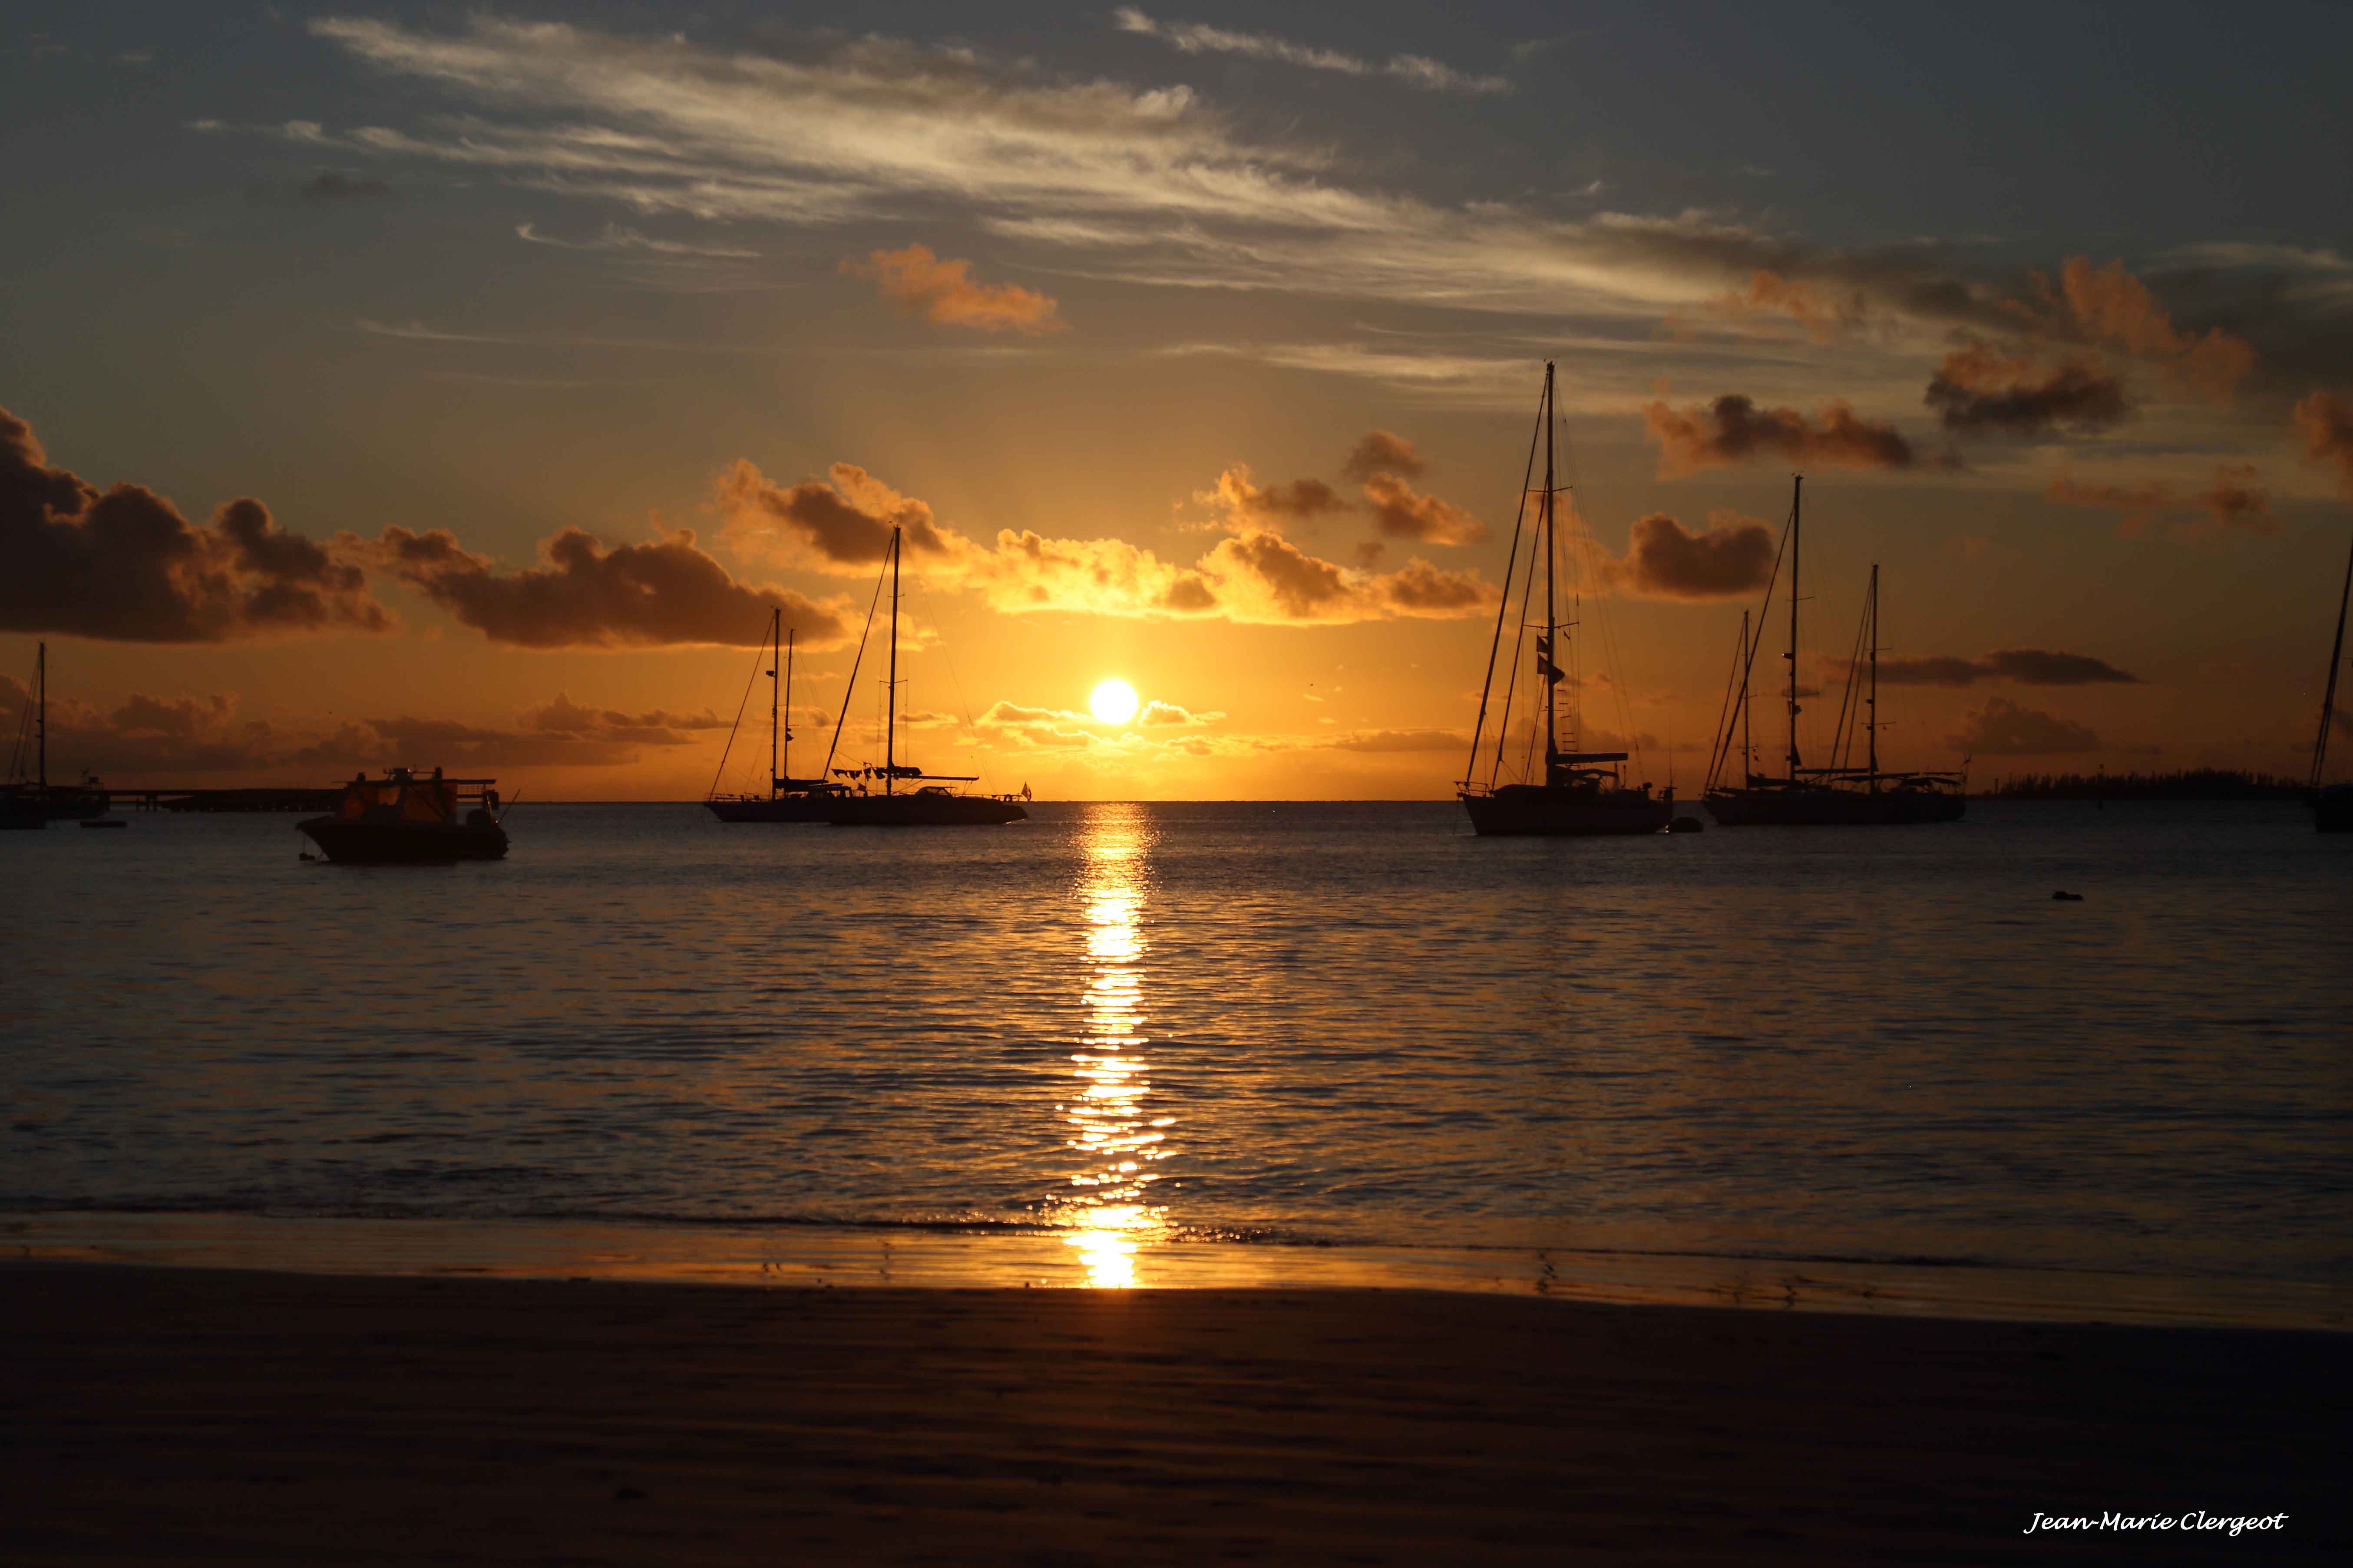
M 0 1213 L 0 1258 L 344 1276 L 605 1279 L 762 1288 L 1440 1291 L 1628 1307 L 2353 1331 L 2344 1286 L 1974 1262 L 1673 1251 L 1167 1241 L 649 1220 Z

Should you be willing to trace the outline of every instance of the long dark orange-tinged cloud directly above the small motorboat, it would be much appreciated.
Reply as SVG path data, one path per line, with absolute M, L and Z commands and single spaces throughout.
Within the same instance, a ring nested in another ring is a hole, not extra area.
M 753 646 L 772 609 L 784 611 L 805 649 L 849 642 L 838 604 L 739 583 L 694 548 L 692 529 L 609 548 L 584 529 L 560 529 L 541 545 L 546 564 L 513 571 L 466 550 L 447 529 L 388 527 L 360 548 L 492 642 L 525 649 Z

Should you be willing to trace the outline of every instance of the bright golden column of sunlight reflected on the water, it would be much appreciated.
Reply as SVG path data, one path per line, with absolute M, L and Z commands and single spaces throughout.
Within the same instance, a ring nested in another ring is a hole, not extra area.
M 1071 1173 L 1064 1220 L 1075 1227 L 1087 1284 L 1136 1284 L 1136 1246 L 1167 1213 L 1151 1201 L 1153 1166 L 1169 1157 L 1174 1117 L 1148 1117 L 1151 1060 L 1144 1056 L 1144 931 L 1151 823 L 1134 806 L 1096 806 L 1082 832 L 1087 867 L 1078 898 L 1087 907 L 1085 1034 L 1071 1053 L 1078 1093 L 1064 1105 Z

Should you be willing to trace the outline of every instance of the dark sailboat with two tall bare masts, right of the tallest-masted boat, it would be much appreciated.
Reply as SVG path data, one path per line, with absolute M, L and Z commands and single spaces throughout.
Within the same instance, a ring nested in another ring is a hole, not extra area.
M 1798 755 L 1798 559 L 1805 529 L 1805 475 L 1791 477 L 1788 531 L 1788 771 L 1781 778 L 1755 771 L 1753 752 L 1741 743 L 1741 785 L 1722 785 L 1725 764 L 1732 759 L 1732 715 L 1718 726 L 1715 755 L 1708 766 L 1708 790 L 1701 797 L 1725 827 L 1868 827 L 1897 823 L 1953 823 L 1967 809 L 1962 773 L 1897 773 L 1880 769 L 1880 569 L 1871 567 L 1871 588 L 1864 595 L 1864 621 L 1857 630 L 1857 658 L 1847 661 L 1847 691 L 1838 708 L 1838 726 L 1831 736 L 1831 764 L 1805 766 Z M 1781 569 L 1774 564 L 1774 578 Z M 1774 583 L 1765 585 L 1765 607 L 1772 607 Z M 1762 616 L 1760 616 L 1762 621 Z M 1755 670 L 1758 637 L 1748 637 L 1741 621 L 1739 675 L 1739 724 L 1748 729 L 1751 675 Z M 1864 679 L 1857 691 L 1857 679 Z M 1849 766 L 1854 736 L 1864 736 L 1864 766 Z

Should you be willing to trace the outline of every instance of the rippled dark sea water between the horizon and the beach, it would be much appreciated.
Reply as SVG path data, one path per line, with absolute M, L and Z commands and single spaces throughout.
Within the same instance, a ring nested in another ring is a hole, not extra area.
M 0 1211 L 1002 1237 L 1096 1284 L 1421 1248 L 1539 1288 L 1767 1260 L 2332 1319 L 2353 1286 L 2353 842 L 2297 806 L 511 830 L 456 867 L 304 863 L 285 816 L 9 835 Z

